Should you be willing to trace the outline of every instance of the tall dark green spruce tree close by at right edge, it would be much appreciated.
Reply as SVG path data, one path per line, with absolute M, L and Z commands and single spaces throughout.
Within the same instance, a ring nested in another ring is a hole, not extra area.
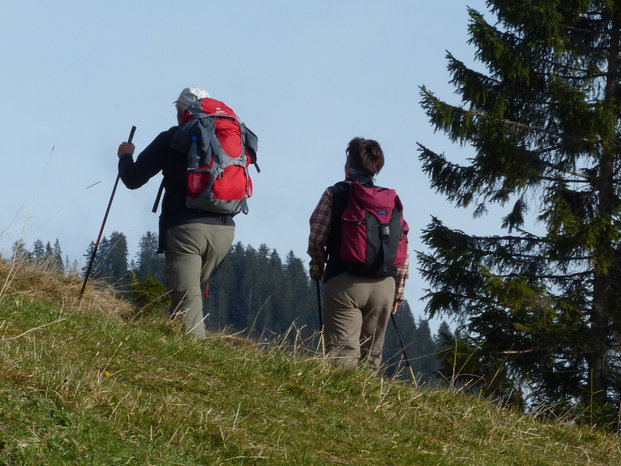
M 487 5 L 490 21 L 469 10 L 485 70 L 447 55 L 461 103 L 421 88 L 433 126 L 471 158 L 421 145 L 420 160 L 456 206 L 506 215 L 490 236 L 432 219 L 419 254 L 427 311 L 461 319 L 480 366 L 502 365 L 531 403 L 577 405 L 610 425 L 621 394 L 621 2 Z

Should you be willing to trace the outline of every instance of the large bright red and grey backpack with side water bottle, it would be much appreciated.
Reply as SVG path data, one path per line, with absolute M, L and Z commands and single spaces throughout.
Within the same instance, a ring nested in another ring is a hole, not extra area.
M 186 111 L 171 148 L 187 154 L 186 206 L 221 214 L 248 213 L 248 165 L 256 164 L 257 136 L 223 102 L 204 98 Z

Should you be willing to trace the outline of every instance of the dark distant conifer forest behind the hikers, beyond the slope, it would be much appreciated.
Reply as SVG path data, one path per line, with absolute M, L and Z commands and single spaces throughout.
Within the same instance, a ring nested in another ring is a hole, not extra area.
M 165 261 L 157 254 L 157 234 L 147 232 L 139 241 L 138 252 L 130 261 L 127 238 L 113 232 L 103 237 L 97 248 L 90 278 L 112 285 L 136 306 L 157 307 L 166 303 Z M 88 264 L 95 243 L 84 254 Z M 58 240 L 51 245 L 37 240 L 28 250 L 23 242 L 13 246 L 19 259 L 45 266 L 59 273 L 84 277 L 87 266 L 78 270 L 77 261 L 63 259 Z M 149 296 L 145 298 L 145 296 Z M 154 306 L 155 303 L 155 306 Z M 204 304 L 205 324 L 211 330 L 227 330 L 247 335 L 257 341 L 272 341 L 289 334 L 303 339 L 316 336 L 319 327 L 317 284 L 311 281 L 303 261 L 290 251 L 284 261 L 278 252 L 262 244 L 255 249 L 238 242 L 212 278 Z M 441 358 L 438 356 L 450 341 L 450 330 L 442 323 L 432 335 L 429 322 L 414 321 L 409 303 L 404 301 L 395 316 L 405 353 L 417 379 L 438 383 Z M 389 324 L 384 346 L 384 368 L 391 376 L 396 372 L 408 377 L 404 370 L 404 351 L 394 325 Z

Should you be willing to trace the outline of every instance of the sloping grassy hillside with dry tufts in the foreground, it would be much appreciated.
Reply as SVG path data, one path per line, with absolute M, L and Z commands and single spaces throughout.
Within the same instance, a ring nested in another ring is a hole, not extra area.
M 621 463 L 615 436 L 277 344 L 193 341 L 79 289 L 0 264 L 0 464 Z

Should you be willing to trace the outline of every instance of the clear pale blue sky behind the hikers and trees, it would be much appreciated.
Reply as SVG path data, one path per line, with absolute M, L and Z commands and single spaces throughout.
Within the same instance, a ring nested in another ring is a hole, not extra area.
M 483 0 L 5 2 L 0 16 L 2 111 L 0 252 L 19 238 L 59 239 L 82 257 L 99 232 L 117 173 L 116 149 L 137 126 L 137 152 L 175 124 L 173 100 L 202 87 L 259 136 L 250 213 L 236 241 L 265 243 L 307 261 L 308 217 L 342 178 L 355 136 L 386 155 L 377 183 L 397 189 L 421 249 L 430 215 L 451 226 L 495 230 L 433 193 L 416 142 L 456 162 L 469 149 L 436 134 L 419 86 L 458 102 L 445 54 L 472 63 L 467 5 Z M 160 177 L 137 191 L 119 185 L 104 235 L 121 231 L 130 254 L 157 230 L 151 206 Z M 406 298 L 421 314 L 424 282 L 413 261 Z

